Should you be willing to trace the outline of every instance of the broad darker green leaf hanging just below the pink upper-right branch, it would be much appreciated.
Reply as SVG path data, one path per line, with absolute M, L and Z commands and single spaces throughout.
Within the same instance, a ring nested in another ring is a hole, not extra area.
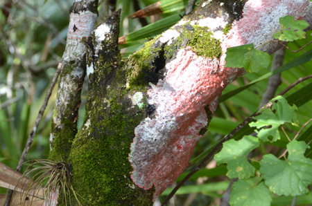
M 243 67 L 248 73 L 268 68 L 271 61 L 270 55 L 255 49 L 253 44 L 227 48 L 226 55 L 226 67 Z

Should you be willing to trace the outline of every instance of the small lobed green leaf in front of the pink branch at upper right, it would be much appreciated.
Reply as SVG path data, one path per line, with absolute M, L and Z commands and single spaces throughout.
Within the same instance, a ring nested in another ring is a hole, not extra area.
M 304 29 L 309 26 L 306 21 L 295 20 L 294 17 L 291 16 L 279 18 L 279 24 L 281 24 L 281 31 L 276 32 L 273 37 L 281 41 L 304 39 L 306 37 Z

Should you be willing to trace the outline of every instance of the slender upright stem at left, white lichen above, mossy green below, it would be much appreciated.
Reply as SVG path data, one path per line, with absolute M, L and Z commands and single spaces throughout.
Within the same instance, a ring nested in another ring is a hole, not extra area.
M 67 44 L 63 55 L 60 85 L 52 120 L 50 158 L 67 161 L 71 144 L 77 133 L 80 93 L 85 78 L 83 38 L 94 29 L 98 1 L 74 1 L 71 7 Z

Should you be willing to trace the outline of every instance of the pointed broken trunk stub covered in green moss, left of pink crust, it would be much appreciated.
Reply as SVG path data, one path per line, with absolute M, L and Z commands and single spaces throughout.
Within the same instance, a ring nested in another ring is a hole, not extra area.
M 87 40 L 86 116 L 69 158 L 71 182 L 83 196 L 83 205 L 152 204 L 153 189 L 141 189 L 130 178 L 133 131 L 146 117 L 135 101 L 146 100 L 125 86 L 118 49 L 119 15 L 120 11 L 98 26 Z

